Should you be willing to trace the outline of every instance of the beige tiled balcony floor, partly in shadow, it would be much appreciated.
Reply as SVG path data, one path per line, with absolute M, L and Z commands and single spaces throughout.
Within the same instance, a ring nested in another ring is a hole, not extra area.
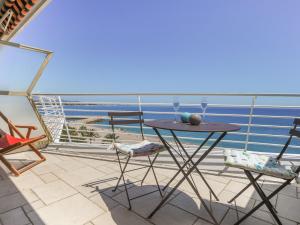
M 59 154 L 63 153 L 63 154 Z M 203 205 L 195 196 L 188 183 L 183 183 L 172 198 L 152 219 L 146 219 L 161 200 L 158 192 L 146 195 L 132 202 L 127 210 L 123 189 L 112 192 L 119 176 L 119 167 L 113 154 L 99 151 L 97 159 L 70 156 L 62 150 L 48 148 L 44 153 L 47 161 L 36 166 L 20 177 L 12 176 L 0 164 L 0 224 L 1 225 L 208 225 L 211 220 Z M 87 156 L 87 155 L 85 155 Z M 32 159 L 30 153 L 9 156 L 14 163 L 22 164 L 23 159 Z M 143 161 L 134 161 L 130 169 Z M 214 201 L 203 181 L 193 175 L 195 183 L 205 202 L 212 209 L 222 225 L 232 225 L 237 216 L 256 205 L 260 199 L 250 188 L 235 204 L 228 204 L 234 193 L 241 190 L 247 179 L 241 171 L 228 169 L 219 175 L 222 166 L 220 154 L 211 155 L 199 167 L 220 198 Z M 162 154 L 157 163 L 157 175 L 162 185 L 176 172 L 176 167 L 167 154 Z M 128 174 L 128 180 L 138 181 L 144 170 Z M 265 178 L 260 184 L 266 193 L 278 186 L 278 180 Z M 171 185 L 172 186 L 172 185 Z M 155 190 L 154 177 L 149 176 L 144 185 L 131 185 L 129 193 L 138 195 Z M 170 190 L 170 189 L 168 189 Z M 272 202 L 286 225 L 300 225 L 300 186 L 292 184 L 275 196 Z M 262 207 L 243 224 L 275 224 L 265 207 Z

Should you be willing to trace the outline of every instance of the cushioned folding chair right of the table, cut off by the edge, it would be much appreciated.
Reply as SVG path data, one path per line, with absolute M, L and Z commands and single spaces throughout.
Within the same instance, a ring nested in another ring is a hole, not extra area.
M 235 225 L 240 224 L 251 214 L 253 214 L 257 209 L 262 205 L 266 205 L 270 213 L 274 217 L 277 224 L 282 225 L 280 219 L 277 216 L 277 211 L 274 206 L 271 204 L 270 199 L 278 194 L 284 187 L 289 185 L 294 179 L 300 183 L 298 178 L 300 173 L 300 166 L 292 165 L 290 167 L 280 164 L 280 160 L 283 154 L 286 152 L 288 146 L 290 145 L 293 137 L 300 138 L 300 131 L 297 130 L 297 127 L 300 125 L 300 119 L 294 120 L 294 127 L 290 130 L 290 137 L 288 138 L 283 149 L 276 158 L 266 155 L 258 155 L 254 153 L 249 153 L 247 151 L 237 151 L 237 150 L 225 150 L 225 165 L 228 167 L 235 167 L 243 169 L 247 178 L 250 180 L 250 183 L 243 188 L 236 196 L 234 196 L 229 203 L 234 201 L 239 197 L 244 191 L 246 191 L 251 185 L 254 186 L 254 189 L 258 192 L 259 196 L 262 199 L 262 202 L 256 205 L 250 212 L 248 212 L 244 217 L 242 217 Z M 253 177 L 253 173 L 257 173 L 256 177 Z M 267 196 L 262 188 L 257 183 L 257 180 L 263 175 L 281 178 L 284 181 L 276 190 L 274 190 L 269 196 Z

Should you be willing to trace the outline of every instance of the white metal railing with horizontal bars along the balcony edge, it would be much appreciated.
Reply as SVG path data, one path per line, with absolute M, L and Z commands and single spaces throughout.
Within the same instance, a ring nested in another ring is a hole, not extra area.
M 56 96 L 57 104 L 42 104 L 40 97 Z M 35 94 L 36 107 L 45 118 L 47 110 L 59 110 L 59 118 L 47 122 L 59 125 L 59 138 L 56 142 L 75 142 L 90 145 L 109 145 L 110 126 L 107 124 L 109 111 L 142 110 L 145 120 L 170 118 L 172 96 L 181 96 L 181 111 L 192 111 L 199 114 L 201 96 L 208 96 L 209 121 L 223 121 L 241 126 L 238 132 L 230 133 L 221 145 L 223 147 L 248 149 L 254 151 L 279 151 L 292 128 L 293 119 L 300 117 L 300 94 L 216 94 L 216 93 L 136 93 L 136 94 Z M 238 99 L 236 99 L 238 98 Z M 116 99 L 116 100 L 114 100 Z M 124 101 L 120 101 L 124 99 Z M 170 101 L 171 100 L 171 101 Z M 198 103 L 199 101 L 199 103 Z M 271 102 L 271 103 L 270 103 Z M 61 120 L 61 116 L 64 117 Z M 55 117 L 55 115 L 54 115 Z M 101 119 L 101 122 L 99 122 Z M 97 121 L 97 122 L 95 122 Z M 55 127 L 55 126 L 54 126 Z M 137 141 L 134 129 L 138 126 L 119 126 L 120 141 Z M 143 128 L 145 136 L 155 138 L 149 127 Z M 50 130 L 50 129 L 49 129 Z M 124 131 L 125 130 L 125 131 Z M 54 131 L 51 131 L 53 134 Z M 56 132 L 57 134 L 57 132 Z M 167 133 L 166 137 L 170 137 Z M 180 138 L 193 145 L 203 140 L 204 136 L 191 136 L 182 133 Z M 290 146 L 291 152 L 300 150 L 300 143 Z M 299 151 L 300 153 L 300 151 Z

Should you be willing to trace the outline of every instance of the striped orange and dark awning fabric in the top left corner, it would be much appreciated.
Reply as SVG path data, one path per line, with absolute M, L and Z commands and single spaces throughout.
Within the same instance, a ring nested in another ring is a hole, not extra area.
M 5 16 L 9 10 L 12 11 L 12 17 L 10 20 L 9 17 L 4 20 L 4 23 L 9 24 L 5 31 L 0 29 L 0 37 L 3 34 L 12 32 L 37 2 L 38 0 L 5 0 L 0 9 L 0 19 Z

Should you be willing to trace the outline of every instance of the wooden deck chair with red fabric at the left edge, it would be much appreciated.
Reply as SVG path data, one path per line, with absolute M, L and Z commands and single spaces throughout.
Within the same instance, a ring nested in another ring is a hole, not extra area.
M 0 129 L 0 160 L 4 165 L 16 176 L 19 176 L 21 173 L 29 170 L 30 168 L 38 165 L 39 163 L 46 160 L 46 158 L 39 152 L 39 150 L 33 145 L 35 142 L 42 140 L 46 135 L 40 135 L 38 137 L 31 138 L 31 131 L 36 130 L 35 126 L 30 125 L 14 125 L 2 112 L 0 112 L 0 117 L 7 123 L 10 134 L 5 133 Z M 26 136 L 24 136 L 18 128 L 27 129 Z M 17 134 L 19 137 L 15 137 Z M 7 159 L 4 158 L 4 155 L 10 153 L 21 147 L 28 146 L 31 150 L 40 158 L 32 163 L 29 163 L 21 168 L 17 169 L 12 165 Z

